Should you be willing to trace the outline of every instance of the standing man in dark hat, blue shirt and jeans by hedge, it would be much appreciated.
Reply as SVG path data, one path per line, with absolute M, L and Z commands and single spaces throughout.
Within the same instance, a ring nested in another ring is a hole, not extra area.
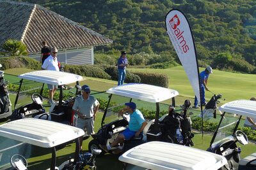
M 126 52 L 121 52 L 121 56 L 117 60 L 117 69 L 118 69 L 118 85 L 122 85 L 125 80 L 126 67 L 128 66 L 128 60 L 126 57 Z

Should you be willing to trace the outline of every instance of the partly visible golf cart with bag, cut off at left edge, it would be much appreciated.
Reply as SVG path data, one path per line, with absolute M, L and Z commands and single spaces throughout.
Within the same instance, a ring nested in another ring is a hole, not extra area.
M 1 64 L 0 67 L 2 67 Z M 12 115 L 12 104 L 7 85 L 8 81 L 4 80 L 4 71 L 0 71 L 0 119 Z

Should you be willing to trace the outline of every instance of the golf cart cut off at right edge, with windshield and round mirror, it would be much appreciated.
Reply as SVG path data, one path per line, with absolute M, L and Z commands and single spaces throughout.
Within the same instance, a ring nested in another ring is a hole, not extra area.
M 218 110 L 221 113 L 220 123 L 207 151 L 223 155 L 227 159 L 228 164 L 221 169 L 255 169 L 256 153 L 241 159 L 241 148 L 236 143 L 238 141 L 242 145 L 248 144 L 246 134 L 237 128 L 242 117 L 256 118 L 256 101 L 232 101 L 223 104 Z

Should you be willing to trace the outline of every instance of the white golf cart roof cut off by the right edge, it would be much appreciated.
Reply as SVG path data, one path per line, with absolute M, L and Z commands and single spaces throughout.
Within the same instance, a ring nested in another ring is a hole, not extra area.
M 237 100 L 219 107 L 221 112 L 233 113 L 245 117 L 256 118 L 256 101 Z

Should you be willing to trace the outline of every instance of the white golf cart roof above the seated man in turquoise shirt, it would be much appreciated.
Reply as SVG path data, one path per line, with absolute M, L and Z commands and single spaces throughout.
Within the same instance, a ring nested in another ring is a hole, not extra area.
M 107 93 L 151 103 L 158 103 L 179 95 L 176 90 L 142 83 L 129 83 L 112 87 L 107 90 Z

